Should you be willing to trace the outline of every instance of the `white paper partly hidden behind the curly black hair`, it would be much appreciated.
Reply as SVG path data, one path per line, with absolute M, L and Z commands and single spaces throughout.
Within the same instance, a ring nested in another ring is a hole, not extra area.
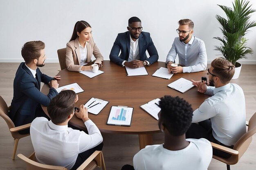
M 161 108 L 159 107 L 160 99 L 153 99 L 150 102 L 141 105 L 140 107 L 145 110 L 149 115 L 153 116 L 155 119 L 158 118 L 158 113 L 160 112 Z

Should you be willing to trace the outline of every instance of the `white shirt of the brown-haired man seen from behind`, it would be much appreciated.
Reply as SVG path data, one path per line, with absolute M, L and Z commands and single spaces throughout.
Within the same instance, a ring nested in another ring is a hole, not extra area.
M 59 126 L 45 117 L 37 117 L 30 126 L 31 141 L 40 163 L 64 166 L 70 170 L 79 153 L 99 145 L 103 138 L 97 126 L 85 121 L 88 134 L 66 126 Z

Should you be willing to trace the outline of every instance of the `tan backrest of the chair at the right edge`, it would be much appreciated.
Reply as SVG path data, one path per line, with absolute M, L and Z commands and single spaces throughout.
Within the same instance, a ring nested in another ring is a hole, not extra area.
M 245 151 L 248 149 L 249 145 L 252 142 L 252 136 L 256 133 L 256 113 L 249 120 L 247 132 L 240 137 L 240 139 L 234 145 L 234 150 L 238 150 L 238 155 L 231 155 L 227 160 L 230 162 L 230 165 L 238 163 L 238 160 L 243 156 Z

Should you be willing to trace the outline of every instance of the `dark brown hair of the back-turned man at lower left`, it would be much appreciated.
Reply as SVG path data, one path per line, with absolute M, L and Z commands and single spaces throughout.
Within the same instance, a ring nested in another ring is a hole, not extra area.
M 60 124 L 67 120 L 67 117 L 74 113 L 76 93 L 72 90 L 61 91 L 52 98 L 47 107 L 52 123 Z

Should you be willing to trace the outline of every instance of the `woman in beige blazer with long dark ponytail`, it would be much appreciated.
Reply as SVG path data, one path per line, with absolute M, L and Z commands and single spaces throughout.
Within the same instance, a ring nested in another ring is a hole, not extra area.
M 94 64 L 101 66 L 103 57 L 92 38 L 92 27 L 88 22 L 78 21 L 70 42 L 67 43 L 66 65 L 69 71 L 92 70 L 92 66 L 83 66 L 96 58 Z

